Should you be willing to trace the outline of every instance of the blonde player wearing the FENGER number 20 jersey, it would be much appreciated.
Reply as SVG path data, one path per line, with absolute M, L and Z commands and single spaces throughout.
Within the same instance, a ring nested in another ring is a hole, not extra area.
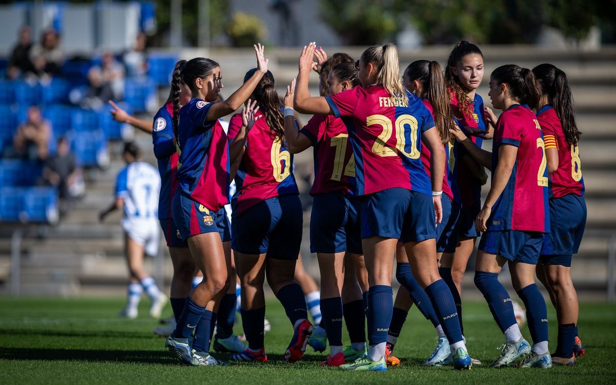
M 455 304 L 437 269 L 436 222 L 442 217 L 445 153 L 437 130 L 432 129 L 434 120 L 421 100 L 404 89 L 393 44 L 363 52 L 359 60 L 361 87 L 326 98 L 310 97 L 308 75 L 314 67 L 314 47 L 314 43 L 304 47 L 299 59 L 294 105 L 301 113 L 343 116 L 349 122 L 355 193 L 363 197 L 362 248 L 370 283 L 368 354 L 340 368 L 387 370 L 384 355 L 393 307 L 392 255 L 399 238 L 405 243 L 416 278 L 442 320 L 455 367 L 470 368 Z M 432 153 L 432 186 L 419 160 L 422 142 Z

